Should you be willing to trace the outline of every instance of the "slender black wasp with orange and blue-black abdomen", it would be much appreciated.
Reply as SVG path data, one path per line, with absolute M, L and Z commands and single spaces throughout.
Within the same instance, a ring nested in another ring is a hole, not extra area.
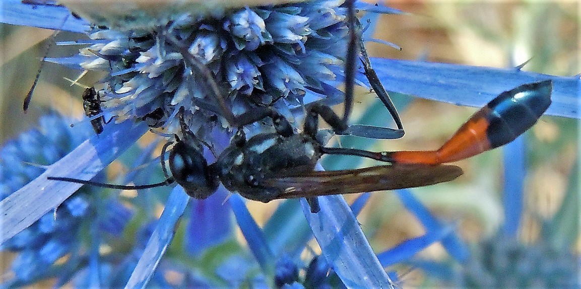
M 347 5 L 347 8 L 351 27 L 354 27 L 353 5 Z M 503 92 L 472 115 L 436 151 L 374 152 L 325 147 L 324 143 L 317 140 L 319 118 L 327 122 L 336 134 L 347 134 L 354 130 L 348 125 L 348 119 L 353 106 L 356 44 L 357 35 L 351 29 L 345 68 L 345 110 L 342 117 L 324 104 L 309 104 L 306 106 L 304 129 L 296 133 L 290 122 L 270 107 L 259 107 L 238 116 L 231 115 L 231 122 L 238 124 L 238 131 L 230 145 L 217 156 L 217 160 L 208 164 L 202 155 L 203 143 L 188 130 L 184 121 L 184 108 L 181 107 L 178 117 L 182 136 L 175 136 L 176 142 L 168 157 L 171 176 L 168 176 L 164 162 L 166 149 L 171 142 L 162 149 L 160 160 L 166 175 L 163 182 L 124 186 L 57 176 L 48 179 L 112 189 L 148 189 L 175 182 L 194 198 L 209 197 L 222 183 L 231 192 L 264 203 L 280 198 L 306 197 L 311 211 L 318 212 L 318 196 L 419 187 L 456 179 L 462 174 L 462 169 L 443 163 L 468 158 L 511 142 L 532 127 L 551 103 L 550 80 L 521 85 Z M 272 120 L 275 132 L 263 132 L 247 139 L 243 127 L 264 118 Z M 367 157 L 389 164 L 341 171 L 314 171 L 315 164 L 324 154 Z

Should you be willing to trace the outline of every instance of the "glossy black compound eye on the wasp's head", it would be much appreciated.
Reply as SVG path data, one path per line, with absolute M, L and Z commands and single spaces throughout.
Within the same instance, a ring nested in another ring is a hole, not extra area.
M 170 152 L 170 170 L 175 182 L 194 198 L 207 198 L 218 187 L 217 176 L 210 170 L 202 154 L 184 142 Z

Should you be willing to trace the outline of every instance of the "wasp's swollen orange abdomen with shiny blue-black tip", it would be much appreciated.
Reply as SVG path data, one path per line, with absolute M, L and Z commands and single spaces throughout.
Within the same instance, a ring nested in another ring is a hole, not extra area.
M 553 82 L 523 84 L 491 100 L 436 151 L 394 151 L 400 164 L 442 164 L 503 146 L 531 128 L 551 104 Z

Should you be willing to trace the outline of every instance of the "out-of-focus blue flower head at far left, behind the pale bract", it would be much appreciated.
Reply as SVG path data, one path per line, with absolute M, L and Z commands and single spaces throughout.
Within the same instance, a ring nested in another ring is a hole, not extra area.
M 55 113 L 45 115 L 40 119 L 38 129 L 22 133 L 0 149 L 2 199 L 36 178 L 42 173 L 42 166 L 58 161 L 92 133 L 86 125 L 71 128 L 70 122 L 70 119 Z M 81 235 L 87 223 L 99 216 L 98 209 L 107 212 L 110 208 L 118 208 L 117 212 L 123 212 L 116 215 L 117 221 L 114 223 L 99 218 L 95 220 L 109 228 L 104 232 L 121 232 L 131 218 L 131 211 L 123 207 L 119 200 L 111 198 L 103 208 L 99 208 L 96 206 L 96 200 L 102 198 L 99 191 L 83 187 L 55 211 L 5 241 L 2 250 L 19 253 L 12 263 L 15 277 L 6 282 L 17 286 L 64 274 L 68 266 L 73 266 L 74 260 L 59 259 L 70 254 L 83 254 L 81 251 L 87 250 Z

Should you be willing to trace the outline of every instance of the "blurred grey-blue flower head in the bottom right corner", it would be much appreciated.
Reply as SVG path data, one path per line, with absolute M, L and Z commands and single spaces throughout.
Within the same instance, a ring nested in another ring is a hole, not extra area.
M 470 288 L 579 288 L 579 259 L 568 248 L 547 240 L 523 244 L 513 237 L 483 240 L 458 273 L 458 284 Z

